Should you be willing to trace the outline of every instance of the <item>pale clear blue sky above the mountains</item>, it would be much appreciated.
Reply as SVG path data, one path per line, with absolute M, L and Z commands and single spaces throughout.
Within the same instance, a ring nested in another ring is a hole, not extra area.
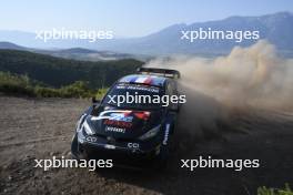
M 292 0 L 2 0 L 0 29 L 111 30 L 142 37 L 175 23 L 293 12 Z

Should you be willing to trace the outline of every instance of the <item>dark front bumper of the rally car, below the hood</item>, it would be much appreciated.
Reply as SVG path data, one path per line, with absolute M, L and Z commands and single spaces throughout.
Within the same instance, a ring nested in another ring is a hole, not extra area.
M 105 136 L 85 135 L 82 131 L 77 133 L 79 154 L 88 158 L 111 158 L 114 164 L 142 164 L 156 158 L 161 151 L 162 136 L 158 134 L 151 140 L 111 140 Z

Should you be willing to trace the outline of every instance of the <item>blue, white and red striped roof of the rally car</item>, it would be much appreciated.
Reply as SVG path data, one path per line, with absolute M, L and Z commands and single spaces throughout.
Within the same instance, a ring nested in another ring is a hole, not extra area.
M 150 74 L 130 74 L 118 81 L 118 83 L 145 84 L 151 86 L 163 86 L 168 79 Z

